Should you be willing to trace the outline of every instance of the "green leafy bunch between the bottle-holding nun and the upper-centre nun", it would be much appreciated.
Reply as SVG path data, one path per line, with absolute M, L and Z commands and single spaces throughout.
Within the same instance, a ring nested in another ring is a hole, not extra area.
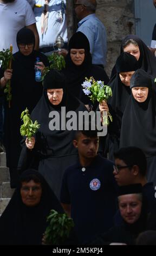
M 47 75 L 50 69 L 62 70 L 63 68 L 65 68 L 65 65 L 66 65 L 64 57 L 62 55 L 57 54 L 57 52 L 53 52 L 51 55 L 49 55 L 48 60 L 49 60 L 50 66 L 44 68 L 43 74 L 42 74 L 42 80 L 44 80 L 44 77 Z

